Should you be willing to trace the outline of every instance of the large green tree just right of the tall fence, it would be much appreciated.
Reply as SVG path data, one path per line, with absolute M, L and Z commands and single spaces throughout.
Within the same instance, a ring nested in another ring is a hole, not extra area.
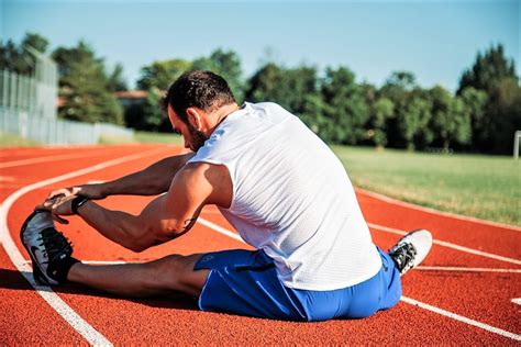
M 109 89 L 103 60 L 80 41 L 76 47 L 58 47 L 53 53 L 58 63 L 60 97 L 65 105 L 58 115 L 81 122 L 123 124 L 122 109 Z

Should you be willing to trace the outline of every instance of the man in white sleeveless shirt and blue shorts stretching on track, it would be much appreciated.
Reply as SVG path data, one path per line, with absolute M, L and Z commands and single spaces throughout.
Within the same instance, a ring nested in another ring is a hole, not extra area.
M 389 254 L 376 247 L 341 161 L 297 116 L 269 102 L 240 108 L 226 81 L 210 71 L 184 74 L 164 103 L 191 153 L 52 192 L 21 233 L 37 282 L 130 296 L 180 291 L 199 298 L 204 311 L 292 321 L 367 317 L 398 302 L 400 275 L 423 260 L 431 234 L 410 233 Z M 140 215 L 95 202 L 159 193 Z M 256 250 L 90 266 L 71 257 L 53 223 L 76 214 L 142 251 L 187 233 L 207 204 Z

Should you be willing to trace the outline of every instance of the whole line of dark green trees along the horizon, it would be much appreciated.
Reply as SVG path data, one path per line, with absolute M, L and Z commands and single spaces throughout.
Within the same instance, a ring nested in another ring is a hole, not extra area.
M 27 34 L 20 46 L 1 43 L 0 68 L 23 71 L 26 67 L 19 66 L 21 59 L 15 57 L 24 54 L 26 44 L 45 52 L 48 43 L 37 34 Z M 59 116 L 71 120 L 169 131 L 158 107 L 162 94 L 184 71 L 207 69 L 229 81 L 239 102 L 277 102 L 330 144 L 508 154 L 513 133 L 521 130 L 520 79 L 500 44 L 477 54 L 455 93 L 441 86 L 422 88 L 410 71 L 391 72 L 380 87 L 357 82 L 346 66 L 320 71 L 309 65 L 266 61 L 245 78 L 239 55 L 219 48 L 193 60 L 176 58 L 144 66 L 137 88 L 147 91 L 147 98 L 125 110 L 113 94 L 126 90 L 121 65 L 108 72 L 103 59 L 84 42 L 58 47 L 52 57 L 59 66 L 65 100 Z

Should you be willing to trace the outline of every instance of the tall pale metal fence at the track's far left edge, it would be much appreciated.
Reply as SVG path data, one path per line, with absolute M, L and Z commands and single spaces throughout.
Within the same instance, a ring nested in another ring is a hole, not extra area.
M 101 136 L 134 136 L 132 130 L 113 124 L 56 119 L 56 64 L 34 49 L 30 52 L 36 58 L 33 76 L 0 70 L 0 133 L 53 145 L 97 144 Z

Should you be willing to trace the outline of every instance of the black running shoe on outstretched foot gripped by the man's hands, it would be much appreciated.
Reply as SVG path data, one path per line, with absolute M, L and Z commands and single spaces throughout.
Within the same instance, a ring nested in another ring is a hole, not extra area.
M 46 210 L 36 210 L 25 220 L 20 238 L 31 256 L 34 280 L 40 284 L 64 283 L 70 267 L 78 262 L 71 257 L 70 243 L 54 227 Z

